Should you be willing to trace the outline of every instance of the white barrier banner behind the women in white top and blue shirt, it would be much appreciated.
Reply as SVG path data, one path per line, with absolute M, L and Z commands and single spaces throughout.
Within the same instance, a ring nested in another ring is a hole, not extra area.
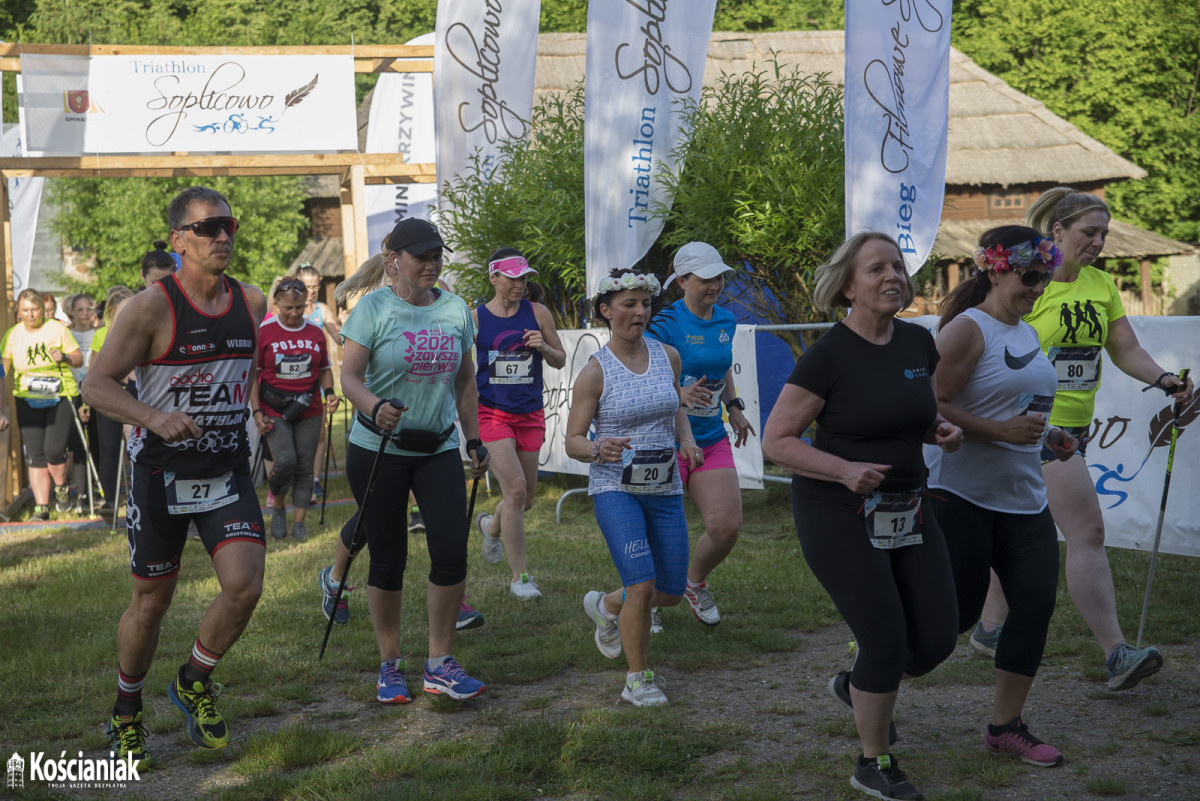
M 571 390 L 580 371 L 592 354 L 608 342 L 607 329 L 583 331 L 559 331 L 559 339 L 566 350 L 566 363 L 562 369 L 542 365 L 542 403 L 546 409 L 546 441 L 541 446 L 538 466 L 550 472 L 588 475 L 588 465 L 566 456 L 566 416 L 571 408 Z M 754 326 L 739 325 L 733 337 L 733 378 L 738 395 L 745 401 L 746 418 L 755 432 L 761 432 L 758 421 L 758 371 L 755 367 Z M 732 435 L 728 418 L 725 430 Z M 757 436 L 746 445 L 733 448 L 733 464 L 743 489 L 762 489 L 762 447 Z

